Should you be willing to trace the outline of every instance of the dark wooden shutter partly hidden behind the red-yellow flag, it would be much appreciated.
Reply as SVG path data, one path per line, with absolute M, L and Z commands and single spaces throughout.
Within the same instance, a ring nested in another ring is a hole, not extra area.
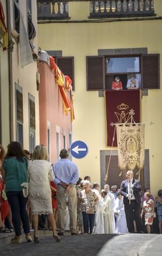
M 75 91 L 74 82 L 74 57 L 55 57 L 56 64 L 61 69 L 64 76 L 69 76 L 72 80 L 72 90 Z

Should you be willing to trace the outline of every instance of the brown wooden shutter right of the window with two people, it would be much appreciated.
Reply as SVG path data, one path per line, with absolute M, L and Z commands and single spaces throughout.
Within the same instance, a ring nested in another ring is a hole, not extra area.
M 142 89 L 160 88 L 160 55 L 142 55 Z

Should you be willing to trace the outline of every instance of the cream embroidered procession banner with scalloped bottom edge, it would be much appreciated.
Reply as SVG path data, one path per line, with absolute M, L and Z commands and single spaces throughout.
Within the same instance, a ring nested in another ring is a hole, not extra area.
M 144 124 L 117 125 L 118 165 L 134 170 L 144 166 Z

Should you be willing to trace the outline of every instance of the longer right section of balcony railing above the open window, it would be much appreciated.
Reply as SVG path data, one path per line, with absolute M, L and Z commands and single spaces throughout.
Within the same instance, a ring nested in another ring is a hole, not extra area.
M 90 18 L 153 16 L 153 0 L 90 1 Z

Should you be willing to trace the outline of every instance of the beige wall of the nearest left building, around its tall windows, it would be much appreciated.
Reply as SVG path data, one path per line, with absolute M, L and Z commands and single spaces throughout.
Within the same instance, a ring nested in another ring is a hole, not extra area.
M 23 13 L 25 25 L 27 26 L 27 1 L 19 1 L 20 9 Z M 13 1 L 11 4 L 11 28 L 13 26 Z M 37 33 L 37 5 L 36 0 L 31 1 L 32 4 L 32 20 Z M 26 27 L 27 28 L 27 27 Z M 14 41 L 14 38 L 13 38 Z M 15 83 L 22 87 L 23 92 L 23 147 L 29 150 L 29 115 L 28 115 L 28 93 L 35 97 L 35 110 L 36 110 L 36 145 L 39 144 L 39 102 L 38 91 L 36 84 L 37 62 L 33 61 L 29 65 L 21 68 L 20 66 L 20 48 L 19 43 L 14 41 L 13 58 L 13 134 L 14 140 L 16 139 L 16 123 L 15 123 Z M 34 39 L 35 52 L 37 53 L 37 36 Z

